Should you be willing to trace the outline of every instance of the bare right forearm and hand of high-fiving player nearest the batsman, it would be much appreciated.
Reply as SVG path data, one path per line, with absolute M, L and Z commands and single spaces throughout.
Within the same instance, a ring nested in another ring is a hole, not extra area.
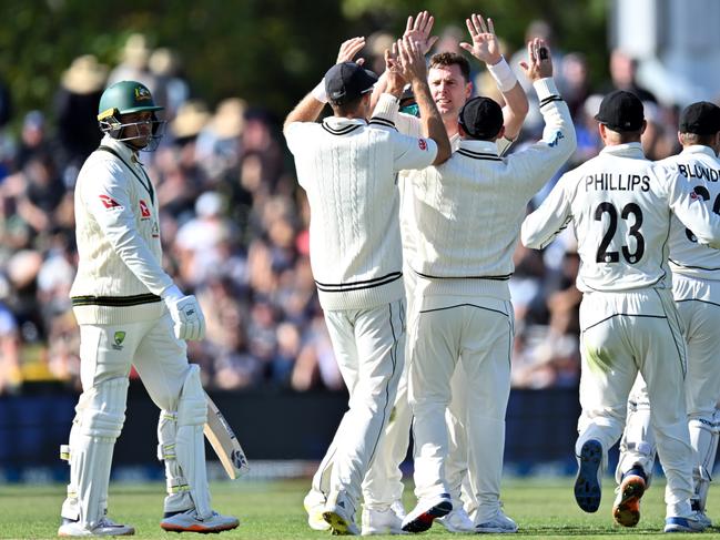
M 445 124 L 443 124 L 443 118 L 427 85 L 425 55 L 420 47 L 410 38 L 403 38 L 397 42 L 397 47 L 400 72 L 403 78 L 413 85 L 415 101 L 420 110 L 423 135 L 437 143 L 437 155 L 433 165 L 439 165 L 450 157 L 453 150 Z

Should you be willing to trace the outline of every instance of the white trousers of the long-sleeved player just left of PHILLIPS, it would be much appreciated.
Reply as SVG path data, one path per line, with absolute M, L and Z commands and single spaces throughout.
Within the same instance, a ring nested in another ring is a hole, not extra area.
M 467 378 L 468 463 L 478 473 L 473 491 L 499 506 L 505 412 L 510 393 L 513 306 L 491 297 L 423 298 L 410 327 L 409 398 L 415 439 L 415 495 L 418 499 L 448 492 L 446 408 L 457 363 Z M 480 480 L 481 479 L 481 480 Z M 488 513 L 490 512 L 488 508 Z M 479 514 L 478 514 L 479 516 Z

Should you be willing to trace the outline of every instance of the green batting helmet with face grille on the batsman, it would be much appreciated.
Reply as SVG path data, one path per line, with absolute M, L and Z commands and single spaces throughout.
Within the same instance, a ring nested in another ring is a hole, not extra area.
M 146 139 L 146 145 L 141 149 L 152 152 L 158 147 L 164 134 L 165 121 L 158 120 L 156 111 L 164 108 L 156 105 L 148 86 L 136 81 L 120 81 L 108 86 L 100 96 L 98 122 L 100 131 L 108 133 L 118 141 L 134 141 Z M 144 122 L 123 122 L 124 114 L 150 111 L 152 119 Z M 141 133 L 141 124 L 151 124 L 151 135 Z M 133 131 L 134 130 L 134 131 Z

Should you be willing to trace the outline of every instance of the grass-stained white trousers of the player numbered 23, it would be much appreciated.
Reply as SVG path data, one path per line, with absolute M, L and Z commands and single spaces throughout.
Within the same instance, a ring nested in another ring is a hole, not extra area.
M 651 422 L 668 479 L 668 516 L 689 516 L 692 449 L 686 417 L 687 366 L 681 323 L 669 291 L 586 293 L 580 304 L 581 376 L 576 454 L 597 439 L 607 457 L 620 438 L 638 371 L 651 403 Z

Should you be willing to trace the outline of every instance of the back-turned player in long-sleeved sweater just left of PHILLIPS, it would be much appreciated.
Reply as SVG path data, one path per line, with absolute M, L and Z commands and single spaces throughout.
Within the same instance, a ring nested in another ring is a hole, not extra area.
M 494 32 L 483 28 L 478 16 L 470 23 L 480 49 L 484 40 L 479 37 Z M 545 105 L 544 139 L 525 152 L 500 157 L 496 141 L 504 135 L 503 110 L 488 98 L 473 99 L 460 110 L 459 122 L 456 119 L 459 142 L 453 157 L 413 174 L 405 187 L 412 193 L 418 227 L 409 259 L 417 283 L 408 390 L 415 417 L 418 503 L 403 522 L 408 532 L 427 530 L 435 518 L 453 509 L 445 478 L 445 411 L 458 365 L 468 388 L 467 404 L 458 412 L 467 428 L 469 469 L 477 473 L 471 478 L 473 495 L 479 501 L 473 530 L 517 530 L 499 501 L 513 342 L 507 281 L 527 202 L 575 149 L 572 122 L 552 83 L 549 53 L 540 41 L 529 43 L 526 67 Z

